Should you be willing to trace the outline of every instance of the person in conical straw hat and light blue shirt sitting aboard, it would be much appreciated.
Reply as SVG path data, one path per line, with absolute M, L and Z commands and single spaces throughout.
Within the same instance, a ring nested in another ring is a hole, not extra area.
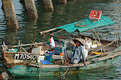
M 83 61 L 84 65 L 86 65 L 86 57 L 85 56 L 85 40 L 81 38 L 75 38 L 73 44 L 73 55 L 71 58 L 71 63 L 77 64 L 80 61 Z

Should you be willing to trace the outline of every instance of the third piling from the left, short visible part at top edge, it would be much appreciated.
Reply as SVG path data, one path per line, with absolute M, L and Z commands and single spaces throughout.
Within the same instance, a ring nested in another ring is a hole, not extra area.
M 54 11 L 52 0 L 43 0 L 43 3 L 46 11 Z

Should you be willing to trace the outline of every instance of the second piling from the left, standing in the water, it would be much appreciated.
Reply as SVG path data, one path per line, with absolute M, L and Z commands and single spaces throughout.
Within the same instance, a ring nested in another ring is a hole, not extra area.
M 22 1 L 22 0 L 21 0 Z M 37 9 L 34 0 L 24 0 L 29 18 L 38 18 Z

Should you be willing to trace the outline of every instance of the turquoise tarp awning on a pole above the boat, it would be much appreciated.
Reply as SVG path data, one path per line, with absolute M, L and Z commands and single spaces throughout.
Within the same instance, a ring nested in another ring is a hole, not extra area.
M 75 32 L 76 30 L 78 30 L 79 32 L 83 32 L 83 31 L 87 31 L 93 28 L 98 28 L 98 27 L 102 27 L 102 26 L 107 26 L 107 25 L 112 25 L 114 24 L 114 22 L 106 17 L 106 16 L 101 16 L 101 20 L 99 21 L 92 21 L 89 18 L 86 18 L 84 20 L 80 20 L 74 23 L 70 23 L 70 24 L 66 24 L 60 27 L 56 27 L 53 29 L 50 29 L 48 31 L 43 31 L 43 33 L 45 32 L 51 32 L 54 30 L 60 30 L 60 29 L 64 29 L 65 31 L 72 33 Z

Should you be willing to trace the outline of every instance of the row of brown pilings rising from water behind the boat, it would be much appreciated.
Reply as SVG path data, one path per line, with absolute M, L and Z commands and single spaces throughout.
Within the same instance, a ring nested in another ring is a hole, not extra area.
M 18 29 L 18 20 L 15 14 L 14 5 L 12 0 L 1 0 L 2 8 L 5 14 L 6 22 L 8 24 L 8 29 Z M 76 0 L 72 0 L 76 1 Z M 25 4 L 27 14 L 29 18 L 38 18 L 37 9 L 34 3 L 34 0 L 20 0 L 23 4 Z M 67 0 L 58 0 L 60 4 L 66 4 Z M 52 0 L 43 0 L 44 8 L 48 12 L 53 12 L 53 2 Z

